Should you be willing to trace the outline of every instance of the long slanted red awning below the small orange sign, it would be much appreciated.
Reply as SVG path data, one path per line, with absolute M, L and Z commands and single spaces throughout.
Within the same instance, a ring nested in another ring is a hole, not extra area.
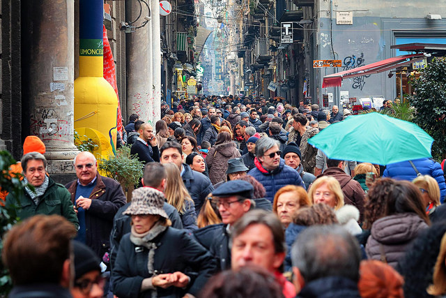
M 369 75 L 371 73 L 381 73 L 386 70 L 397 68 L 400 66 L 406 66 L 415 61 L 419 61 L 424 58 L 424 54 L 408 54 L 398 57 L 392 57 L 389 59 L 374 62 L 372 64 L 344 70 L 339 73 L 333 73 L 332 75 L 325 75 L 323 77 L 322 88 L 327 87 L 341 87 L 342 79 L 348 77 L 360 77 L 361 75 Z

